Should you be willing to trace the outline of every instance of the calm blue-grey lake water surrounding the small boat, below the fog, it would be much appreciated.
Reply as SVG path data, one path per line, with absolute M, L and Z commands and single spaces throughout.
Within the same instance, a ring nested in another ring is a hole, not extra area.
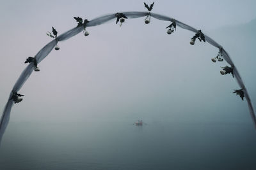
M 10 123 L 0 169 L 253 169 L 252 124 Z

